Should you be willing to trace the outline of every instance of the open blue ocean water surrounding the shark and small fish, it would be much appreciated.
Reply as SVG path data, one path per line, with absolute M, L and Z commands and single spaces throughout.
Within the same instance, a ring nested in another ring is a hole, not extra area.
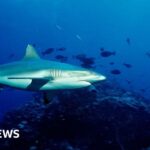
M 0 64 L 22 59 L 28 43 L 35 44 L 39 54 L 49 47 L 66 47 L 59 54 L 68 57 L 67 63 L 79 65 L 72 59 L 78 54 L 94 57 L 94 70 L 108 81 L 149 98 L 148 0 L 1 0 L 0 6 Z M 101 57 L 100 48 L 116 55 Z M 57 53 L 41 57 L 55 60 Z M 111 74 L 112 69 L 121 74 Z M 31 97 L 31 92 L 4 90 L 0 93 L 1 113 Z

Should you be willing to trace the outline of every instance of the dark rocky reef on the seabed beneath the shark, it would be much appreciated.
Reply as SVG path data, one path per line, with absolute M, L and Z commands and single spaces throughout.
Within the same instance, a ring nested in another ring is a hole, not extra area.
M 150 105 L 110 83 L 59 92 L 48 105 L 30 103 L 5 115 L 1 128 L 20 139 L 1 150 L 144 150 L 150 147 Z M 59 102 L 58 102 L 59 101 Z

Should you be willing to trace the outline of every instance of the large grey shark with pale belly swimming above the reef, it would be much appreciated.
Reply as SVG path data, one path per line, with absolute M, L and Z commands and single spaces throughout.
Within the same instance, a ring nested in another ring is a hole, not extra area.
M 105 79 L 79 66 L 42 59 L 30 44 L 23 59 L 0 65 L 0 84 L 29 91 L 83 88 Z

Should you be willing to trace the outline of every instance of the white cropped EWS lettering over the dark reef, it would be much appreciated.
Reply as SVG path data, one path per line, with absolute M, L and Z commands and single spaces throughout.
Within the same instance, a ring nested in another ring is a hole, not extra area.
M 0 129 L 0 139 L 18 139 L 20 137 L 20 131 L 17 129 L 4 130 Z

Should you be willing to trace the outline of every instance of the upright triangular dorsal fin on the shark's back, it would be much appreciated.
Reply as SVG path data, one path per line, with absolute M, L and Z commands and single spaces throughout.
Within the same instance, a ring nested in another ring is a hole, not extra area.
M 32 45 L 28 44 L 23 60 L 30 60 L 30 59 L 40 59 L 40 57 L 37 54 L 36 49 Z

